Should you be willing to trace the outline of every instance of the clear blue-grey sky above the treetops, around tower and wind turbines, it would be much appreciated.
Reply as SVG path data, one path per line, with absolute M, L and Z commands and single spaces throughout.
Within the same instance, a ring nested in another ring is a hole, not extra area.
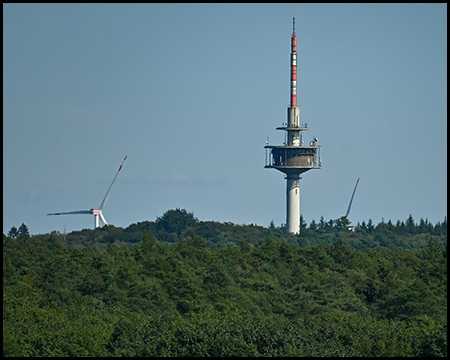
M 3 232 L 286 222 L 292 4 L 3 4 Z M 296 4 L 309 224 L 447 216 L 447 4 Z

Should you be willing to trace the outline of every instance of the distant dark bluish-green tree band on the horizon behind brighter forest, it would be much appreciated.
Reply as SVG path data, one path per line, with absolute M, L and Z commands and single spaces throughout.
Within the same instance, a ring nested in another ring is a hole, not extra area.
M 361 224 L 352 226 L 346 217 L 342 217 L 335 225 L 330 225 L 321 217 L 318 223 L 313 220 L 309 227 L 303 222 L 300 235 L 286 236 L 285 225 L 276 227 L 273 221 L 267 228 L 254 224 L 237 225 L 231 222 L 199 221 L 193 213 L 176 209 L 166 211 L 163 216 L 157 218 L 156 222 L 144 221 L 132 224 L 126 229 L 111 225 L 94 230 L 74 231 L 66 235 L 52 232 L 52 235 L 60 243 L 71 247 L 95 245 L 101 248 L 107 247 L 108 244 L 133 246 L 142 241 L 144 231 L 147 231 L 155 241 L 167 243 L 177 243 L 181 237 L 189 238 L 195 233 L 204 239 L 208 248 L 240 247 L 243 241 L 252 246 L 259 246 L 267 237 L 275 240 L 286 239 L 300 246 L 333 244 L 342 240 L 354 249 L 381 246 L 417 250 L 425 248 L 431 237 L 438 242 L 439 247 L 445 248 L 446 218 L 444 222 L 437 223 L 435 226 L 423 219 L 419 224 L 415 224 L 412 216 L 406 223 L 409 230 L 406 230 L 405 222 L 400 221 L 394 225 L 390 220 L 387 223 L 382 220 L 378 225 L 374 225 L 372 220 L 369 220 L 367 224 L 363 221 Z M 12 235 L 8 237 L 15 238 L 18 236 L 18 231 L 15 232 L 12 228 L 8 234 Z

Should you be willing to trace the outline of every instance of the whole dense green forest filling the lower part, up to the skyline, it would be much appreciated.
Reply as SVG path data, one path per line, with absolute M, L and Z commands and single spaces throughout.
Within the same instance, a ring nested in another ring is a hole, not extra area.
M 447 221 L 3 234 L 3 356 L 447 357 Z

